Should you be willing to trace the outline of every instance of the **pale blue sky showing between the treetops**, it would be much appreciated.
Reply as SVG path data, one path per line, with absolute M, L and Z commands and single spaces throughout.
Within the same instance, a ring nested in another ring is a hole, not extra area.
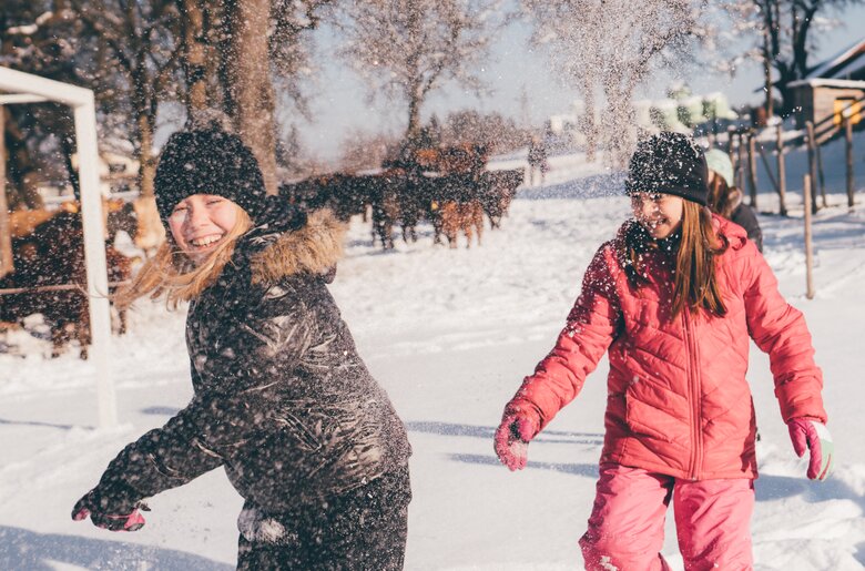
M 842 16 L 845 24 L 821 38 L 818 50 L 808 63 L 815 64 L 832 57 L 865 33 L 865 6 L 849 8 Z M 520 119 L 519 99 L 523 86 L 530 101 L 529 113 L 533 125 L 542 124 L 552 114 L 568 113 L 578 94 L 557 80 L 556 69 L 550 67 L 546 53 L 529 49 L 529 33 L 527 26 L 511 24 L 495 42 L 492 58 L 480 72 L 493 90 L 491 95 L 478 99 L 458 85 L 446 85 L 430 94 L 423 110 L 424 116 L 435 112 L 441 118 L 448 111 L 475 108 Z M 399 132 L 404 129 L 406 106 L 380 99 L 370 102 L 366 85 L 333 54 L 332 39 L 327 35 L 319 40 L 319 55 L 326 63 L 312 98 L 315 120 L 297 124 L 305 146 L 320 159 L 332 160 L 338 156 L 340 143 L 353 129 L 370 132 Z M 762 94 L 754 90 L 761 85 L 761 74 L 756 63 L 740 68 L 733 78 L 706 73 L 700 65 L 683 64 L 672 72 L 650 78 L 639 96 L 664 96 L 666 86 L 678 78 L 689 83 L 695 93 L 721 91 L 733 105 L 757 102 Z

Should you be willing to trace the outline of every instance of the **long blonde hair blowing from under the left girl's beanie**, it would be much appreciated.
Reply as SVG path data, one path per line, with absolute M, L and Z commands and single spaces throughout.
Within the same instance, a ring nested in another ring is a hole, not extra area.
M 203 262 L 195 264 L 184 254 L 167 232 L 165 242 L 156 253 L 135 274 L 132 283 L 114 294 L 114 304 L 123 309 L 145 295 L 151 299 L 165 296 L 170 309 L 175 309 L 181 302 L 194 299 L 213 285 L 222 274 L 225 264 L 234 254 L 237 238 L 252 227 L 250 215 L 237 206 L 237 220 L 234 227 L 225 235 L 225 239 Z

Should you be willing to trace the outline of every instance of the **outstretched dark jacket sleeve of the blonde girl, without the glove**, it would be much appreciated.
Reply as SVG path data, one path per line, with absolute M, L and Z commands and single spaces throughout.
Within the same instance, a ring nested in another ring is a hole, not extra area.
M 257 319 L 221 337 L 218 354 L 204 359 L 210 370 L 223 371 L 220 384 L 200 380 L 193 366 L 197 389 L 192 401 L 162 428 L 128 445 L 91 493 L 108 498 L 103 503 L 114 510 L 125 509 L 256 447 L 275 410 L 275 378 L 294 370 L 308 347 L 307 308 L 281 303 L 284 298 L 266 298 Z

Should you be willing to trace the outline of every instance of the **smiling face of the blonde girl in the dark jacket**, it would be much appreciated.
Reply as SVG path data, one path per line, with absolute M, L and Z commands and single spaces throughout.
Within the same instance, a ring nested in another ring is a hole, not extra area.
M 237 210 L 223 196 L 193 194 L 179 202 L 169 216 L 171 235 L 181 251 L 200 264 L 232 231 Z

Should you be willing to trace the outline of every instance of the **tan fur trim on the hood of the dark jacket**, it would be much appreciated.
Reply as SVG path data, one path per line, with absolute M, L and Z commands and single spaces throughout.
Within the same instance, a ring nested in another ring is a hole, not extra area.
M 253 283 L 274 283 L 302 273 L 332 273 L 343 256 L 345 233 L 345 224 L 329 210 L 322 210 L 309 214 L 306 224 L 296 231 L 257 238 L 269 244 L 250 256 Z

